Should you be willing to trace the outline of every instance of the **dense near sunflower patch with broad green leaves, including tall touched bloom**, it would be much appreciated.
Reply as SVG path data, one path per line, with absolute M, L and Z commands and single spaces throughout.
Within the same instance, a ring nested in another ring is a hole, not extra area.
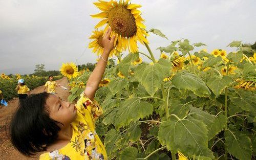
M 102 54 L 109 26 L 116 35 L 110 56 L 117 65 L 108 65 L 96 93 L 104 110 L 96 128 L 109 159 L 255 158 L 256 53 L 247 57 L 241 41 L 227 45 L 233 52 L 208 53 L 198 49 L 204 43 L 182 39 L 157 48 L 156 58 L 146 37 L 166 36 L 146 29 L 142 6 L 129 0 L 94 4 L 102 12 L 92 17 L 102 20 L 89 48 Z M 90 74 L 71 79 L 69 101 L 79 97 Z

